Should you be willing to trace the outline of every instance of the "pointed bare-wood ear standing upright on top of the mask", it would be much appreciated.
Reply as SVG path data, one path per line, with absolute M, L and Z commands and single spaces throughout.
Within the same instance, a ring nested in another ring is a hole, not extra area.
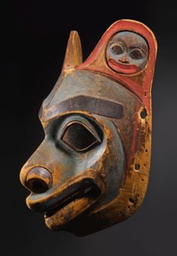
M 69 71 L 70 69 L 76 68 L 82 62 L 83 53 L 80 43 L 80 36 L 77 31 L 71 31 L 62 71 Z

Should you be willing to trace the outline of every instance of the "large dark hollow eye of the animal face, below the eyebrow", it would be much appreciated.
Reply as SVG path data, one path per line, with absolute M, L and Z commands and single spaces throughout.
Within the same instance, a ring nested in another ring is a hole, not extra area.
M 85 125 L 74 122 L 65 128 L 62 140 L 77 151 L 84 151 L 99 142 L 99 139 Z

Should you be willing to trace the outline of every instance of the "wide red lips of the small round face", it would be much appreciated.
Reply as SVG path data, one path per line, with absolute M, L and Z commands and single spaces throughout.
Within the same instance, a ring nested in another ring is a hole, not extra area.
M 108 64 L 110 65 L 110 68 L 113 68 L 113 70 L 119 73 L 133 74 L 137 71 L 136 65 L 121 64 L 119 62 L 115 62 L 114 59 L 109 59 Z

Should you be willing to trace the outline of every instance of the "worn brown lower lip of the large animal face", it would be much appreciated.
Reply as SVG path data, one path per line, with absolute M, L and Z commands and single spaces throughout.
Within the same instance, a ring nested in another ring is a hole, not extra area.
M 44 215 L 46 226 L 51 230 L 59 230 L 88 209 L 93 203 L 95 203 L 95 200 L 89 197 L 78 198 L 55 212 L 52 216 Z

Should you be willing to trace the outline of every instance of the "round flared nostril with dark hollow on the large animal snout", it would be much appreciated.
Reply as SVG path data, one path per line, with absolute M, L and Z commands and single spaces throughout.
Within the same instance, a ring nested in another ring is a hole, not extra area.
M 34 193 L 43 193 L 52 185 L 52 175 L 43 167 L 32 168 L 26 176 L 26 187 Z

